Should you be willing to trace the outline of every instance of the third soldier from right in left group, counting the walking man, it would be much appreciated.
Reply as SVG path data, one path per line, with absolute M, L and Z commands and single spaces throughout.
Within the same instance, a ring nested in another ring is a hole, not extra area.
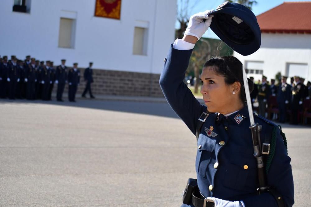
M 63 92 L 67 82 L 67 67 L 65 66 L 66 60 L 62 60 L 62 64 L 56 68 L 55 83 L 57 84 L 57 101 L 63 101 Z

